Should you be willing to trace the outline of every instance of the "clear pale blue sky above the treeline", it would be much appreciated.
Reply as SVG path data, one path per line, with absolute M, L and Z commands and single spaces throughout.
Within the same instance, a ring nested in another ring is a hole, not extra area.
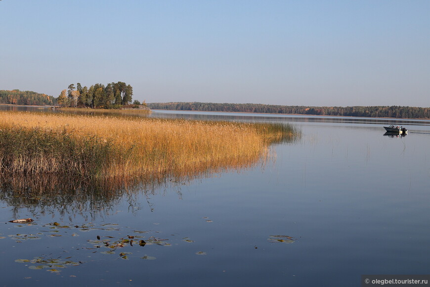
M 430 107 L 429 0 L 1 0 L 0 90 Z

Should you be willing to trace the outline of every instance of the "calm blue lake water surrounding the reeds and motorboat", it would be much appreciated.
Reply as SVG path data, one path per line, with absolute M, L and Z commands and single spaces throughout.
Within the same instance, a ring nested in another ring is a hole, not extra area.
M 101 205 L 3 190 L 0 286 L 360 286 L 362 274 L 430 273 L 430 121 L 150 116 L 285 122 L 303 136 L 254 168 L 122 191 Z M 383 136 L 389 124 L 409 134 Z

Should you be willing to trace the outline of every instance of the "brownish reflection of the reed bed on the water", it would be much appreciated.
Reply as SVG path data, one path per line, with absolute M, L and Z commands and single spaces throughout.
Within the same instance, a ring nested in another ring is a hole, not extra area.
M 19 212 L 26 209 L 37 214 L 54 214 L 60 216 L 80 215 L 93 220 L 99 215 L 108 215 L 115 211 L 122 200 L 127 200 L 129 211 L 140 209 L 141 198 L 153 211 L 151 195 L 163 193 L 167 189 L 176 191 L 181 199 L 181 187 L 188 186 L 195 179 L 211 178 L 221 173 L 236 172 L 261 168 L 275 160 L 274 155 L 249 159 L 248 162 L 232 163 L 230 166 L 218 166 L 202 170 L 183 171 L 174 175 L 160 175 L 154 178 L 115 178 L 91 180 L 79 177 L 47 175 L 0 175 L 0 200 L 12 207 L 12 217 L 18 218 Z

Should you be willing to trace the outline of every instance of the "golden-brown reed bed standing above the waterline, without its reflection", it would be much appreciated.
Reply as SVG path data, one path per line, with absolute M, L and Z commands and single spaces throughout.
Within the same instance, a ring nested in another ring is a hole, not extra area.
M 0 112 L 0 171 L 96 180 L 183 177 L 245 167 L 291 126 Z

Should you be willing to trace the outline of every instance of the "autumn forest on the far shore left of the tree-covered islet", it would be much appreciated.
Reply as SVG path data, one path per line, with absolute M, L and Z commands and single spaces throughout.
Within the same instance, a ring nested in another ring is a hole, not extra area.
M 32 91 L 0 90 L 0 103 L 24 105 L 55 105 L 56 98 Z

